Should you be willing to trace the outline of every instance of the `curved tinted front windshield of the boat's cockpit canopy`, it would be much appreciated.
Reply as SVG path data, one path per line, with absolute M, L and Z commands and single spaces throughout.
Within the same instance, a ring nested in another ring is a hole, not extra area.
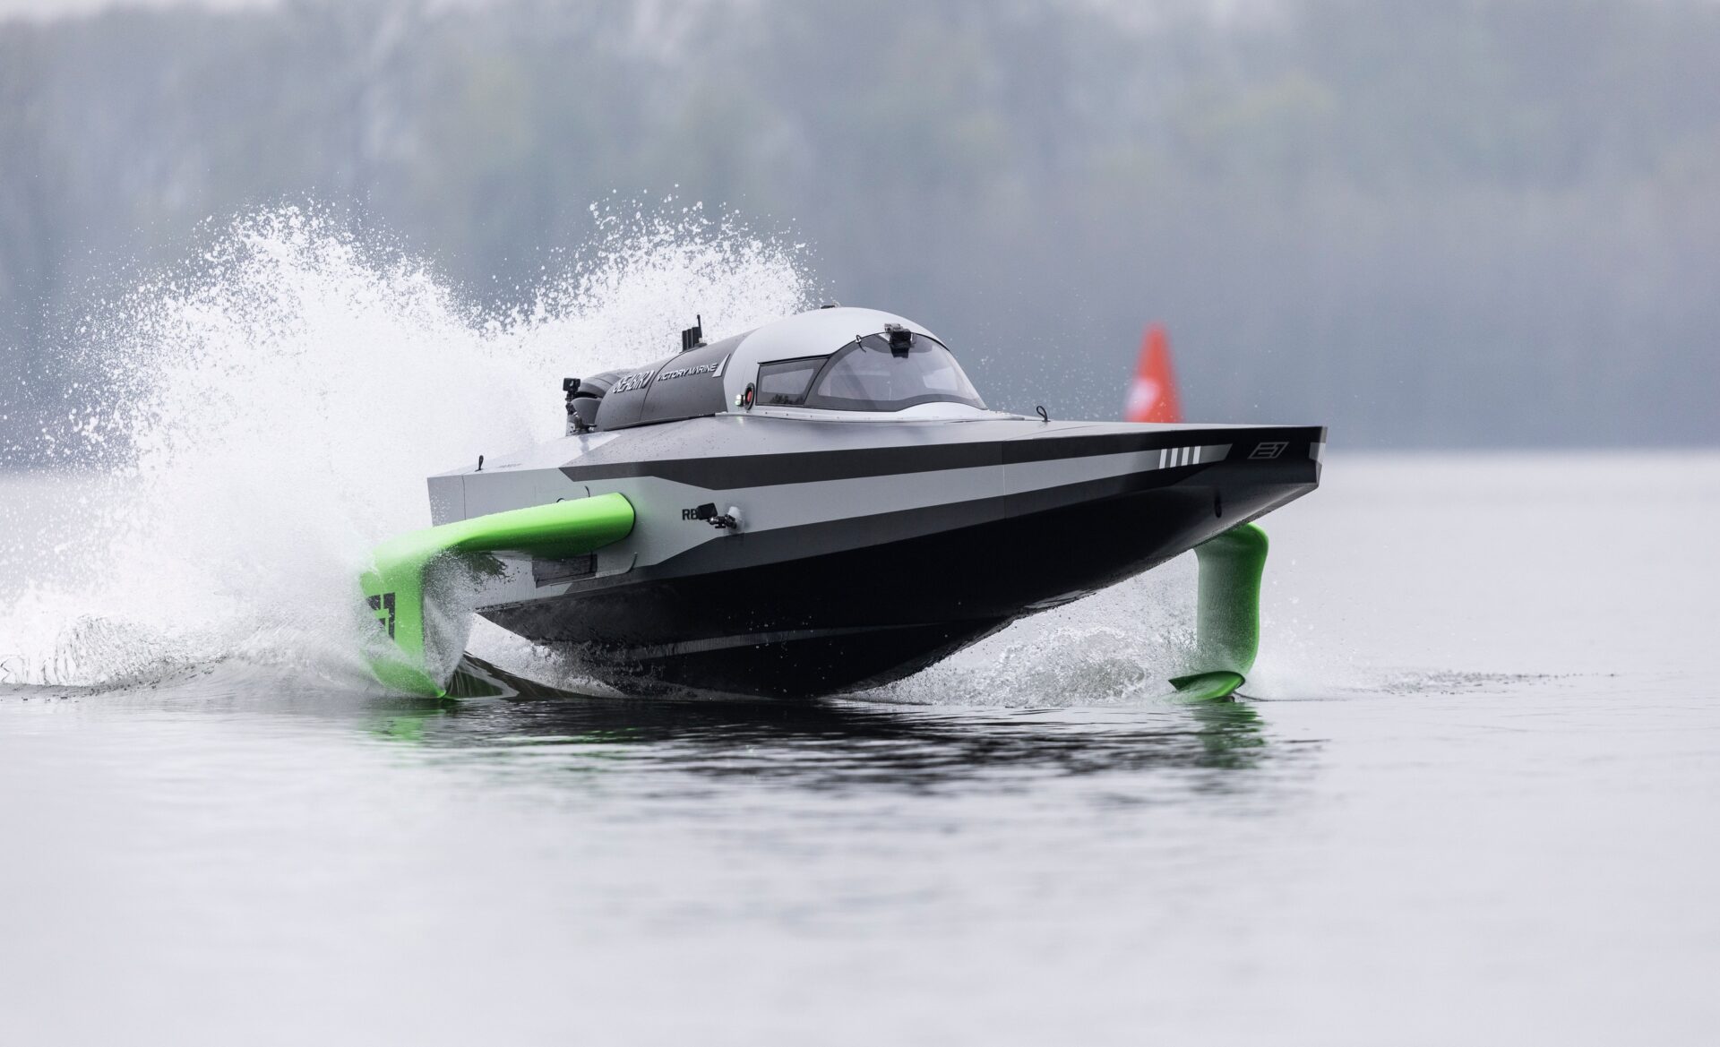
M 984 409 L 961 364 L 929 335 L 896 332 L 867 335 L 831 356 L 819 373 L 808 407 L 838 411 L 901 411 L 915 404 L 968 404 Z M 906 347 L 901 346 L 906 342 Z

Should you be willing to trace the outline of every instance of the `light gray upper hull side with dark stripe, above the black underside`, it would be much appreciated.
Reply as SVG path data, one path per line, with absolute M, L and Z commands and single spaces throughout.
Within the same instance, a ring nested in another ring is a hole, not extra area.
M 516 569 L 485 588 L 483 609 L 972 526 L 1001 517 L 1011 504 L 1054 507 L 1060 490 L 1066 499 L 1089 497 L 1085 485 L 1096 481 L 1161 471 L 1185 480 L 1233 454 L 1245 457 L 1264 440 L 1285 442 L 1281 454 L 1307 459 L 1323 430 L 717 416 L 556 440 L 483 471 L 433 476 L 430 500 L 435 523 L 609 492 L 633 502 L 633 535 L 600 550 L 588 578 L 545 585 L 554 572 Z M 707 504 L 738 509 L 740 528 L 695 519 Z M 939 512 L 913 512 L 927 509 Z M 894 523 L 869 530 L 867 519 Z M 820 533 L 815 524 L 836 521 L 853 524 L 850 536 L 810 540 Z M 810 543 L 753 540 L 776 533 L 807 535 Z

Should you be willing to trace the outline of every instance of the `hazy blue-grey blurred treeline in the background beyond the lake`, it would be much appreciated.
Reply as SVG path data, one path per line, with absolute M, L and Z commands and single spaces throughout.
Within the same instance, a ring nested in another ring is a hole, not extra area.
M 28 425 L 21 375 L 52 383 L 86 303 L 205 218 L 351 208 L 506 304 L 593 199 L 678 184 L 791 227 L 845 303 L 949 337 L 994 406 L 1113 416 L 1159 318 L 1201 419 L 1715 442 L 1717 57 L 1698 0 L 0 24 L 0 411 Z

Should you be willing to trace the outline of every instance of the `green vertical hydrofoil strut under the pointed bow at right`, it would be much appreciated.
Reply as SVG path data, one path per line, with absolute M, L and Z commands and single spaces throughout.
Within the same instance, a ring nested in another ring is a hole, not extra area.
M 1254 669 L 1261 646 L 1266 531 L 1242 524 L 1194 548 L 1201 571 L 1192 672 L 1171 679 L 1176 696 L 1228 698 Z

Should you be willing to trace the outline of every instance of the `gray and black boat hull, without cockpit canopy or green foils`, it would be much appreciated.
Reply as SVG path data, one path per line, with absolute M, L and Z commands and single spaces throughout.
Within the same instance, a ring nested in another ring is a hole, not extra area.
M 574 567 L 588 578 L 516 564 L 480 614 L 626 691 L 874 686 L 1314 490 L 1324 444 L 1318 426 L 848 425 L 748 444 L 683 425 L 655 454 L 557 466 L 576 495 L 628 495 L 636 542 Z M 685 454 L 712 445 L 736 452 Z M 464 475 L 463 499 L 482 483 Z M 710 528 L 700 504 L 740 526 Z

